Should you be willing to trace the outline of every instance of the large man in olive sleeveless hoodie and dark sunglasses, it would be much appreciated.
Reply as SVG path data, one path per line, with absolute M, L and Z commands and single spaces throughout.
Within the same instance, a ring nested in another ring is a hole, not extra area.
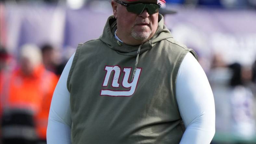
M 111 5 L 103 34 L 64 68 L 47 143 L 210 143 L 214 100 L 195 52 L 173 39 L 157 0 Z

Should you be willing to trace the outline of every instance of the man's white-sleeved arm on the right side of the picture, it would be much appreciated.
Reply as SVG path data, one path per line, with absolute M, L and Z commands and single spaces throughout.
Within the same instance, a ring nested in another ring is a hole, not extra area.
M 209 144 L 215 133 L 215 106 L 208 79 L 191 53 L 180 68 L 176 99 L 186 130 L 180 144 Z

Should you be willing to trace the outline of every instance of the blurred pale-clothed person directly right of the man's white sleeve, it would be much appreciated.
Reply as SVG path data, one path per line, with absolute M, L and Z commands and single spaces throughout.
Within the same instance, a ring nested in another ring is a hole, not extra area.
M 214 54 L 211 61 L 211 70 L 208 78 L 211 84 L 215 102 L 215 127 L 216 132 L 229 133 L 230 105 L 228 97 L 231 71 L 223 60 L 222 54 Z

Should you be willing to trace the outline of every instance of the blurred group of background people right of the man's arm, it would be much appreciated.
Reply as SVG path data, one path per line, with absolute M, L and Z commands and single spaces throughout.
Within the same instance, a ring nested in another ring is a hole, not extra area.
M 250 66 L 228 64 L 215 54 L 207 75 L 215 101 L 216 134 L 223 135 L 227 144 L 234 139 L 236 144 L 255 142 L 256 60 Z

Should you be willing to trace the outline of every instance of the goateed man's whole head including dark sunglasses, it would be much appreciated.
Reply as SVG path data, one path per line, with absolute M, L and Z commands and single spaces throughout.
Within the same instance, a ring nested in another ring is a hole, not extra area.
M 112 0 L 111 4 L 117 19 L 117 36 L 124 43 L 137 45 L 152 38 L 158 26 L 157 0 Z

